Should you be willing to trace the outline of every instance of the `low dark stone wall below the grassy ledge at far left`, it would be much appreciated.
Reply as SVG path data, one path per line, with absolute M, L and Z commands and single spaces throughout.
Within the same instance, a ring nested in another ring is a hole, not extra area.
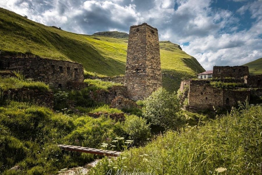
M 10 89 L 3 92 L 4 99 L 11 99 L 14 101 L 31 101 L 34 104 L 46 106 L 48 108 L 54 107 L 54 94 L 52 91 L 39 91 L 37 89 L 31 90 L 28 88 Z

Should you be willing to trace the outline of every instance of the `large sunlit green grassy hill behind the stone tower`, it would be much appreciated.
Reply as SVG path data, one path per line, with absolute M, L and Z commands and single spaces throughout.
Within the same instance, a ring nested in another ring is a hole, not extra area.
M 33 22 L 0 8 L 0 50 L 2 55 L 39 55 L 83 64 L 90 74 L 125 74 L 128 39 L 75 34 Z M 178 45 L 160 42 L 163 86 L 176 91 L 180 81 L 193 78 L 204 69 Z

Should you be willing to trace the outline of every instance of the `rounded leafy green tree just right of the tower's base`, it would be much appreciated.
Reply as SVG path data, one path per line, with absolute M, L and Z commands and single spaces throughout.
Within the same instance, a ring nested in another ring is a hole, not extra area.
M 160 88 L 144 101 L 144 116 L 153 125 L 177 129 L 185 123 L 181 105 L 175 93 Z

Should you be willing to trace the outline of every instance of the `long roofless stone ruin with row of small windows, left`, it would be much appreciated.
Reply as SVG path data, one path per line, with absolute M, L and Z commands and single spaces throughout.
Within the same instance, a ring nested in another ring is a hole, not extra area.
M 25 78 L 65 88 L 69 81 L 84 81 L 82 64 L 40 57 L 0 57 L 1 69 L 22 72 Z

